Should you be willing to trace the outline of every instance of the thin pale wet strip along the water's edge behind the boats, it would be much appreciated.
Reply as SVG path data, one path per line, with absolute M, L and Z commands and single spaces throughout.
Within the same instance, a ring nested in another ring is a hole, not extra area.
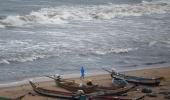
M 169 67 L 169 64 L 167 65 L 152 65 L 149 67 L 135 67 L 134 69 L 132 68 L 124 68 L 124 69 L 116 69 L 116 71 L 118 72 L 131 72 L 131 71 L 138 71 L 138 70 L 147 70 L 147 69 L 155 69 L 155 68 L 167 68 Z M 110 69 L 111 68 L 106 68 L 106 69 Z M 93 73 L 93 72 L 89 72 L 89 73 L 85 73 L 85 75 L 87 77 L 91 77 L 91 76 L 98 76 L 98 75 L 105 75 L 108 74 L 108 72 L 104 71 L 104 70 L 100 70 L 100 72 L 97 73 Z M 57 74 L 60 75 L 60 74 Z M 79 73 L 72 73 L 72 74 L 63 74 L 61 75 L 62 78 L 64 79 L 74 79 L 74 78 L 79 78 L 80 74 Z M 48 82 L 48 81 L 52 81 L 52 79 L 49 79 L 48 77 L 45 76 L 41 76 L 41 77 L 30 77 L 30 78 L 24 78 L 22 80 L 19 81 L 13 81 L 13 82 L 4 82 L 4 83 L 0 83 L 0 89 L 2 88 L 10 88 L 10 87 L 17 87 L 17 86 L 21 86 L 21 85 L 26 85 L 29 84 L 29 80 L 34 80 L 35 82 Z

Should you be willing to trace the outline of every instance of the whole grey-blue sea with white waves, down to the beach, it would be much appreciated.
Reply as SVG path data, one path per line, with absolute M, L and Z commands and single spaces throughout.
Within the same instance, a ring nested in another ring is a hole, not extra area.
M 170 65 L 170 0 L 0 0 L 0 84 Z

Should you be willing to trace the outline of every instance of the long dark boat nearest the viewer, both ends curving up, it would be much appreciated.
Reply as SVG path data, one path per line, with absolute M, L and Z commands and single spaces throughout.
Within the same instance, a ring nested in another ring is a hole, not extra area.
M 99 98 L 100 96 L 104 97 L 104 96 L 109 96 L 109 95 L 112 95 L 112 96 L 113 95 L 121 95 L 121 94 L 127 93 L 128 91 L 130 91 L 131 89 L 133 89 L 135 87 L 135 85 L 128 85 L 127 87 L 116 89 L 116 90 L 105 90 L 105 89 L 103 89 L 103 90 L 93 92 L 93 93 L 89 93 L 89 94 L 83 94 L 83 93 L 77 94 L 77 93 L 71 93 L 71 92 L 62 92 L 62 91 L 44 89 L 44 88 L 41 88 L 41 87 L 37 87 L 31 81 L 30 81 L 30 84 L 31 84 L 33 90 L 40 95 L 62 98 L 62 99 L 69 99 L 69 100 L 80 100 L 81 97 L 86 98 L 86 99 L 89 98 L 89 100 L 90 99 L 91 100 L 98 100 L 98 99 L 93 99 L 93 98 L 95 98 L 95 97 Z M 115 100 L 119 100 L 119 99 L 115 99 Z

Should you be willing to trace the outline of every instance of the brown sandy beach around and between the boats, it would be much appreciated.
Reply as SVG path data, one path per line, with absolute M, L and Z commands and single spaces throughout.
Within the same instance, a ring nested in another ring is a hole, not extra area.
M 156 87 L 150 87 L 152 91 L 156 94 L 156 97 L 149 97 L 145 96 L 144 100 L 166 100 L 165 95 L 161 94 L 161 92 L 170 91 L 170 67 L 164 68 L 152 68 L 152 69 L 143 69 L 143 70 L 136 70 L 136 71 L 127 71 L 123 72 L 127 75 L 134 75 L 134 76 L 144 76 L 144 77 L 165 77 L 165 81 L 161 81 L 161 84 Z M 111 86 L 111 77 L 109 74 L 97 75 L 97 76 L 90 76 L 86 77 L 85 79 L 91 79 L 93 83 L 97 83 L 98 85 L 102 86 Z M 79 82 L 79 78 L 75 78 L 76 82 Z M 47 82 L 36 83 L 38 86 L 53 89 L 53 90 L 62 90 L 59 87 L 55 86 L 55 82 L 53 80 Z M 137 86 L 132 91 L 128 92 L 126 97 L 135 98 L 138 96 L 146 95 L 142 93 L 141 90 L 145 86 Z M 9 98 L 16 98 L 18 96 L 24 95 L 23 100 L 56 100 L 56 98 L 45 97 L 35 93 L 29 84 L 24 84 L 21 86 L 16 87 L 7 87 L 1 88 L 0 96 L 9 97 Z

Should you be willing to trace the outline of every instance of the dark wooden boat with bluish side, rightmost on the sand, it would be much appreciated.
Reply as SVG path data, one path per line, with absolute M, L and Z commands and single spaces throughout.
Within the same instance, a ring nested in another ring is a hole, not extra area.
M 109 72 L 112 78 L 123 78 L 127 82 L 135 83 L 135 84 L 158 86 L 161 81 L 160 80 L 161 78 L 145 78 L 145 77 L 138 77 L 138 76 L 130 76 L 130 75 L 117 73 L 115 71 L 109 71 L 107 69 L 104 69 L 104 70 Z

